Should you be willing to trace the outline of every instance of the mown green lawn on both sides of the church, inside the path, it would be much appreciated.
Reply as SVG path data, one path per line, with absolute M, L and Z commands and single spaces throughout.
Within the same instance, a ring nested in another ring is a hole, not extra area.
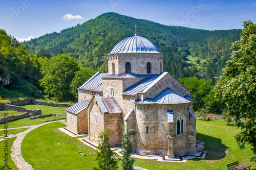
M 92 169 L 96 165 L 95 154 L 91 148 L 81 144 L 77 139 L 58 131 L 61 123 L 41 126 L 30 132 L 22 143 L 22 153 L 35 169 Z M 136 159 L 134 165 L 147 169 L 226 169 L 226 164 L 234 161 L 248 163 L 256 168 L 256 163 L 250 162 L 252 156 L 250 147 L 240 150 L 233 136 L 239 128 L 227 125 L 220 120 L 197 121 L 197 139 L 205 142 L 205 159 L 195 158 L 187 163 L 159 162 L 156 160 Z M 31 150 L 33 143 L 33 150 Z M 86 157 L 78 154 L 82 151 Z M 40 153 L 40 154 L 38 154 Z M 121 169 L 121 166 L 119 166 Z

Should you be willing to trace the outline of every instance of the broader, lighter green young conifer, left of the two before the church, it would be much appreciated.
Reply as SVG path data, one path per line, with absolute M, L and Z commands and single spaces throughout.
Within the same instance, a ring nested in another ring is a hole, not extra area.
M 98 163 L 98 168 L 93 167 L 93 169 L 102 170 L 112 170 L 118 169 L 118 159 L 117 154 L 110 149 L 109 143 L 109 129 L 104 129 L 98 136 L 99 145 L 97 147 L 97 157 L 96 161 Z

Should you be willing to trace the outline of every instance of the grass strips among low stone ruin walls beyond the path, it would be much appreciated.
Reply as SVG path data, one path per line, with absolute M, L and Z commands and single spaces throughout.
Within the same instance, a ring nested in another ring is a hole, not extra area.
M 15 120 L 12 122 L 8 123 L 8 128 L 17 128 L 17 127 L 22 127 L 22 126 L 30 126 L 30 125 L 37 125 L 37 124 L 42 124 L 45 123 L 44 120 L 53 120 L 56 118 L 66 118 L 67 115 L 65 114 L 65 110 L 68 107 L 52 107 L 52 106 L 45 106 L 45 105 L 23 105 L 22 107 L 28 108 L 28 109 L 41 109 L 42 114 L 50 114 L 54 113 L 57 116 L 50 116 L 50 117 L 45 117 L 45 118 L 36 118 L 36 119 L 28 119 L 28 118 L 23 118 L 19 120 Z M 4 129 L 4 124 L 0 125 L 0 129 Z

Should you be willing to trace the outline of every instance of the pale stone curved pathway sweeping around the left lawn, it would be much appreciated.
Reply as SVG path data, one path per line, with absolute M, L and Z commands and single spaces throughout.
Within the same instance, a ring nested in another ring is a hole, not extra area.
M 66 124 L 65 120 L 57 120 L 54 122 L 61 122 L 63 124 Z M 47 122 L 47 123 L 43 123 L 43 124 L 39 124 L 39 125 L 31 125 L 31 126 L 26 126 L 26 127 L 18 127 L 18 128 L 10 128 L 10 129 L 20 129 L 20 128 L 29 128 L 24 132 L 20 132 L 17 133 L 16 135 L 9 135 L 8 138 L 12 138 L 12 137 L 17 137 L 13 143 L 12 143 L 12 148 L 11 148 L 11 158 L 14 162 L 14 164 L 17 166 L 18 169 L 20 170 L 31 170 L 34 169 L 28 162 L 25 161 L 25 159 L 22 156 L 22 141 L 25 138 L 25 136 L 31 132 L 32 130 L 42 126 L 42 125 L 46 125 L 46 124 L 50 124 L 53 122 Z M 6 138 L 2 138 L 1 140 L 5 140 Z

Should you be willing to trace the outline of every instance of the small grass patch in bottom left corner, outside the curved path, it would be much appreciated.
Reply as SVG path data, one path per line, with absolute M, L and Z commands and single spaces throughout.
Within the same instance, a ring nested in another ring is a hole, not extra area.
M 11 159 L 11 155 L 10 155 L 10 153 L 11 153 L 11 146 L 12 146 L 12 143 L 13 143 L 13 141 L 16 139 L 16 137 L 13 137 L 13 138 L 10 138 L 10 139 L 8 139 L 8 165 L 10 165 L 10 166 L 12 166 L 13 168 L 12 168 L 12 170 L 16 170 L 16 169 L 18 169 L 16 166 L 15 166 L 15 164 L 14 164 L 14 162 L 12 161 L 12 159 Z M 4 160 L 5 160 L 5 158 L 4 158 L 4 156 L 5 156 L 5 151 L 4 151 L 4 149 L 5 149 L 5 143 L 4 143 L 4 141 L 1 141 L 0 142 L 0 148 L 1 148 L 1 152 L 0 152 L 0 162 L 1 162 L 1 164 L 3 164 L 3 163 L 5 163 L 4 162 Z

